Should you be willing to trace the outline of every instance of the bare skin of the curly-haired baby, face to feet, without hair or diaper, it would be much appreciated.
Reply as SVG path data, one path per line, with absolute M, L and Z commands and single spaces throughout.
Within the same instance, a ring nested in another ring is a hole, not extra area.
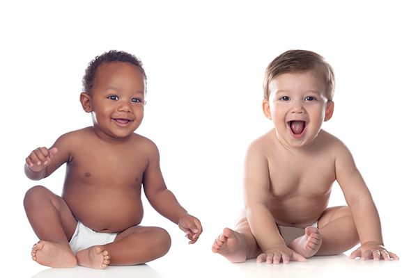
M 26 158 L 25 173 L 33 180 L 67 166 L 62 197 L 36 186 L 24 198 L 26 215 L 40 238 L 31 252 L 33 260 L 52 267 L 78 263 L 107 268 L 164 256 L 171 246 L 167 231 L 139 226 L 142 188 L 155 210 L 195 243 L 202 231 L 199 220 L 167 189 L 155 144 L 134 133 L 144 117 L 144 75 L 139 68 L 121 62 L 100 65 L 91 94 L 83 92 L 80 101 L 92 114 L 93 126 L 66 133 L 49 149 L 35 149 Z M 77 220 L 94 231 L 118 235 L 113 243 L 74 255 L 68 242 Z

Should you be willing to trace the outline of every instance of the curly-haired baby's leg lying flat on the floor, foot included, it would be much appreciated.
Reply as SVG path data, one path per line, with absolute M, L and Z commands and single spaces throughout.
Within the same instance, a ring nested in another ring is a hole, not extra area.
M 77 252 L 79 265 L 105 268 L 110 265 L 138 265 L 158 259 L 171 247 L 167 231 L 158 227 L 131 227 L 116 236 L 113 243 Z

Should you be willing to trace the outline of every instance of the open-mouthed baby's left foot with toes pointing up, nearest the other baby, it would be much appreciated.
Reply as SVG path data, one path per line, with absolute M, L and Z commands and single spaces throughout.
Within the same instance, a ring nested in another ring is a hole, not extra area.
M 224 234 L 215 239 L 212 252 L 221 254 L 231 263 L 242 263 L 247 259 L 247 250 L 242 236 L 229 228 L 225 228 Z

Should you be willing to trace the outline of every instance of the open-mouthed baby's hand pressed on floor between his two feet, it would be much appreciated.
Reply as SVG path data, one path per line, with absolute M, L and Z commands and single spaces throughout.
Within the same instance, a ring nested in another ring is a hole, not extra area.
M 269 264 L 279 264 L 280 261 L 283 261 L 284 264 L 287 264 L 289 261 L 300 261 L 303 263 L 307 261 L 307 259 L 283 244 L 269 248 L 268 250 L 265 250 L 264 253 L 258 255 L 257 263 L 262 263 L 263 261 Z

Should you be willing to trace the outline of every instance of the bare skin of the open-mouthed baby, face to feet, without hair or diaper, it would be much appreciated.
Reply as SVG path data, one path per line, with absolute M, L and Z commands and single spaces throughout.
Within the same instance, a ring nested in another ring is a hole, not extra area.
M 245 158 L 245 211 L 234 231 L 224 229 L 212 252 L 233 262 L 306 261 L 353 252 L 362 259 L 398 259 L 383 246 L 380 218 L 348 148 L 323 131 L 334 102 L 315 70 L 281 74 L 270 82 L 263 112 L 274 129 L 249 146 Z M 337 181 L 348 206 L 327 208 Z M 318 221 L 318 229 L 309 227 Z M 277 225 L 305 228 L 287 246 Z

